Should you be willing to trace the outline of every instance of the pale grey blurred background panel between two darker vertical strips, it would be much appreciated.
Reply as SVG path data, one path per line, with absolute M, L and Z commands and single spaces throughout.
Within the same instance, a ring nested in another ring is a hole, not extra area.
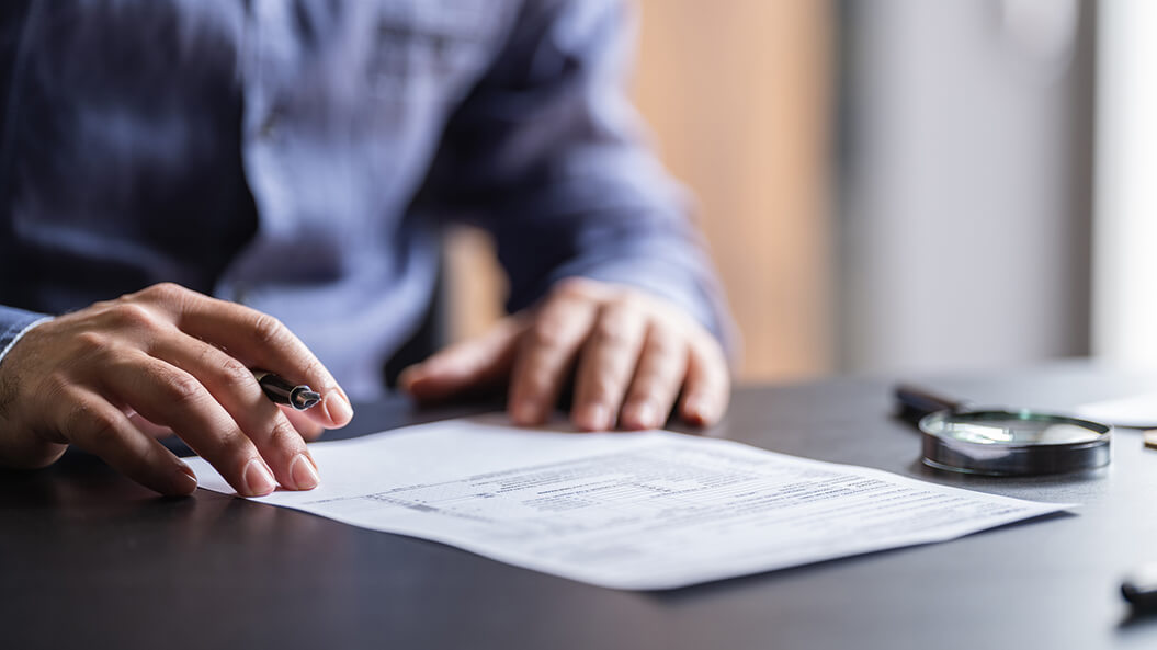
M 841 365 L 1088 354 L 1092 5 L 840 6 Z

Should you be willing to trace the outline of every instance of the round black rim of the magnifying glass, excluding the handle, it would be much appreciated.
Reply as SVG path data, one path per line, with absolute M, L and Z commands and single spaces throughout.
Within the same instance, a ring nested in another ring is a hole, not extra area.
M 946 421 L 985 423 L 1019 420 L 1068 424 L 1096 437 L 1078 442 L 979 443 L 943 435 Z M 995 477 L 1057 474 L 1103 467 L 1110 461 L 1113 427 L 1055 413 L 1034 411 L 937 411 L 920 420 L 924 464 L 938 470 Z

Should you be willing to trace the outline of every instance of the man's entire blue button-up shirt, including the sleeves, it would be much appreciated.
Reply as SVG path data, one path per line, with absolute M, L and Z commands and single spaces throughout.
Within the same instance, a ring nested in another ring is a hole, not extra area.
M 629 17 L 619 0 L 13 3 L 0 353 L 42 315 L 174 281 L 277 316 L 371 398 L 451 221 L 493 235 L 510 310 L 584 275 L 721 333 L 684 198 L 625 98 Z

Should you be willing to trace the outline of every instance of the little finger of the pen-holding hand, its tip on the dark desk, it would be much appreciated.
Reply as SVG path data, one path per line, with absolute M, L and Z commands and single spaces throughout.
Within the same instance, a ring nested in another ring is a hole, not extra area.
M 116 406 L 98 394 L 69 389 L 58 427 L 76 446 L 157 493 L 179 496 L 197 489 L 193 471 L 155 438 L 137 429 Z

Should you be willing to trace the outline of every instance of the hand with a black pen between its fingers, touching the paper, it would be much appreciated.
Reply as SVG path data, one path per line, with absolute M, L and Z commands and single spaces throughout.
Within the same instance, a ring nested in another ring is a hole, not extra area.
M 290 423 L 250 368 L 309 384 L 324 401 Z M 333 377 L 277 319 L 176 285 L 39 325 L 0 362 L 0 464 L 44 466 L 75 444 L 168 495 L 197 480 L 150 434 L 176 433 L 255 496 L 315 487 L 303 436 L 352 416 Z

